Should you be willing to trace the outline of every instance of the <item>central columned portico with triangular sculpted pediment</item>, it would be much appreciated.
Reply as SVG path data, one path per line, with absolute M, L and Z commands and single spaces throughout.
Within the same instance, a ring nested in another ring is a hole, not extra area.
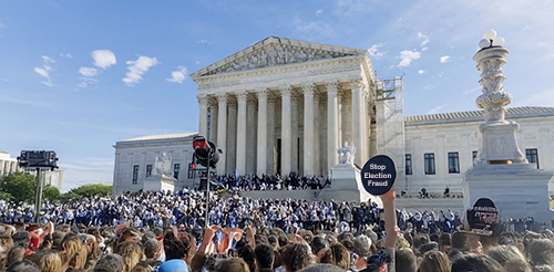
M 225 157 L 219 174 L 325 176 L 342 142 L 358 147 L 357 165 L 369 158 L 377 80 L 366 50 L 270 36 L 191 76 L 199 135 L 218 113 L 209 133 Z

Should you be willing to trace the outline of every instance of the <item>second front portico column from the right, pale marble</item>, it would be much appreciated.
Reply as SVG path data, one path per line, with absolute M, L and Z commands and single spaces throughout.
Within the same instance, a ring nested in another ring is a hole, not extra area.
M 338 164 L 338 103 L 337 103 L 337 88 L 338 82 L 326 82 L 327 86 L 327 169 L 330 171 L 331 167 Z

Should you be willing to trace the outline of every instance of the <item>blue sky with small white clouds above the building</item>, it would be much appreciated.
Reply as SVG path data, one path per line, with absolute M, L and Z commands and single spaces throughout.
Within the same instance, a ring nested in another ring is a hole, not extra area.
M 448 4 L 445 4 L 448 2 Z M 111 181 L 121 139 L 195 132 L 188 74 L 267 36 L 371 50 L 404 114 L 476 109 L 495 29 L 513 106 L 554 106 L 552 0 L 0 0 L 0 149 L 53 149 L 64 190 Z

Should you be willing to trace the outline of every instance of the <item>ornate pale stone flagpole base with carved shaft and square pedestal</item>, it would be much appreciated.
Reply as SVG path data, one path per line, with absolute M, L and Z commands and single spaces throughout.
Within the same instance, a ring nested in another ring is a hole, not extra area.
M 483 108 L 484 123 L 480 125 L 481 143 L 475 165 L 462 181 L 464 209 L 471 209 L 480 198 L 496 205 L 503 221 L 510 218 L 533 217 L 537 222 L 551 222 L 554 212 L 548 206 L 548 184 L 553 172 L 536 169 L 520 150 L 516 132 L 520 126 L 504 118 L 512 95 L 504 92 L 502 65 L 510 53 L 504 39 L 494 30 L 483 34 L 479 51 L 473 56 L 481 71 L 483 86 L 475 104 Z

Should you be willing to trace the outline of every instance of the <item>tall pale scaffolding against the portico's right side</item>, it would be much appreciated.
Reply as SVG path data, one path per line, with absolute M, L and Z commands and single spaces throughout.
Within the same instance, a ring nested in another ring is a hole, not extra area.
M 408 190 L 406 180 L 406 142 L 402 77 L 377 82 L 376 123 L 377 154 L 392 158 L 397 167 L 397 190 Z

